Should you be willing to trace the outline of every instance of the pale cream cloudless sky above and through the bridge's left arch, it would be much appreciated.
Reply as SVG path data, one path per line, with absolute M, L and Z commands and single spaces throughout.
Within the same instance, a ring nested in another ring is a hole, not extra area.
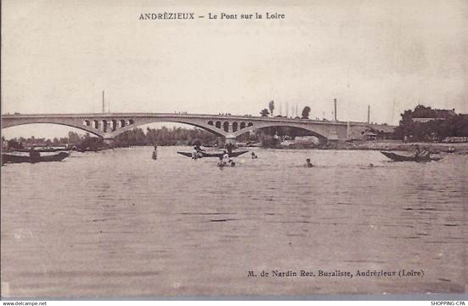
M 273 100 L 275 115 L 297 104 L 330 119 L 336 98 L 344 121 L 366 121 L 368 105 L 388 124 L 418 104 L 468 113 L 468 1 L 1 2 L 2 114 L 101 112 L 102 90 L 112 112 L 256 116 Z M 164 12 L 196 18 L 139 19 Z

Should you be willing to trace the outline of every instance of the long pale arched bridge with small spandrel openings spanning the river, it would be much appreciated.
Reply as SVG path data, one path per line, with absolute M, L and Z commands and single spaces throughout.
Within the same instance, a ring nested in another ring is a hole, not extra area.
M 387 124 L 350 121 L 175 113 L 7 114 L 2 115 L 1 128 L 22 124 L 61 124 L 88 131 L 111 144 L 115 137 L 124 131 L 142 124 L 157 122 L 194 125 L 224 137 L 229 143 L 235 143 L 236 138 L 241 134 L 270 126 L 307 130 L 322 142 L 351 139 L 352 135 L 360 135 L 368 128 L 386 133 L 395 129 L 395 126 Z

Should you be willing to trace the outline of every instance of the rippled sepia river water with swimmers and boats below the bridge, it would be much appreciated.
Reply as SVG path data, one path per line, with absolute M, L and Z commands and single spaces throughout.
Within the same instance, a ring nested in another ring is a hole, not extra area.
M 468 156 L 256 148 L 219 169 L 181 149 L 2 167 L 2 296 L 467 290 Z

